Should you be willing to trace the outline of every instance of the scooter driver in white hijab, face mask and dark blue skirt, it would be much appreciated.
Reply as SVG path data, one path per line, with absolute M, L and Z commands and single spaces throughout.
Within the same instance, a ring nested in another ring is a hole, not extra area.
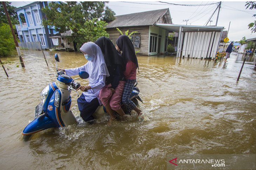
M 84 54 L 88 62 L 77 68 L 59 69 L 66 72 L 67 75 L 78 75 L 80 71 L 89 73 L 88 86 L 81 86 L 82 95 L 77 99 L 80 116 L 84 121 L 93 120 L 92 114 L 102 105 L 99 99 L 99 92 L 105 86 L 106 76 L 109 76 L 104 56 L 99 46 L 93 42 L 82 45 L 80 51 Z

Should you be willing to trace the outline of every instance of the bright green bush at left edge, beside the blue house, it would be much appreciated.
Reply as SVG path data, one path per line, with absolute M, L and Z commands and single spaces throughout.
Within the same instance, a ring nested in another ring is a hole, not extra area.
M 10 26 L 1 23 L 0 26 L 0 56 L 8 56 L 11 50 L 15 49 L 15 44 L 12 36 Z

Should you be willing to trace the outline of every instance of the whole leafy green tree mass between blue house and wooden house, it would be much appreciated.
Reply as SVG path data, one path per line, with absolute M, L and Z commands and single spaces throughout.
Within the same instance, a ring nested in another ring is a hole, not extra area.
M 79 48 L 85 42 L 95 41 L 101 36 L 108 37 L 105 21 L 110 22 L 114 18 L 111 15 L 113 11 L 108 7 L 105 9 L 106 3 L 108 2 L 50 2 L 42 9 L 46 15 L 43 25 L 55 27 L 60 33 L 71 30 Z

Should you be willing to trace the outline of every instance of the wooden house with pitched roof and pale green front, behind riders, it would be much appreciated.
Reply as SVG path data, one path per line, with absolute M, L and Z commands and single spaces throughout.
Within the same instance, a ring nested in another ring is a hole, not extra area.
M 169 8 L 116 16 L 114 21 L 108 23 L 106 30 L 114 44 L 121 35 L 116 28 L 123 33 L 137 31 L 132 36 L 135 51 L 151 56 L 167 52 L 169 30 L 156 27 L 157 23 L 172 24 Z

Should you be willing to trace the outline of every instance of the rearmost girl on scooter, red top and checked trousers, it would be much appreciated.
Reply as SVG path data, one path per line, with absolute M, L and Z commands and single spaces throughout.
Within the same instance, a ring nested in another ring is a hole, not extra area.
M 131 101 L 134 84 L 136 82 L 136 70 L 139 69 L 138 60 L 135 54 L 134 46 L 130 38 L 126 35 L 121 35 L 116 40 L 116 50 L 121 52 L 124 59 L 125 71 L 124 77 L 126 82 L 123 88 L 122 102 L 127 107 L 128 111 L 135 110 L 139 119 L 142 118 L 142 111 Z

